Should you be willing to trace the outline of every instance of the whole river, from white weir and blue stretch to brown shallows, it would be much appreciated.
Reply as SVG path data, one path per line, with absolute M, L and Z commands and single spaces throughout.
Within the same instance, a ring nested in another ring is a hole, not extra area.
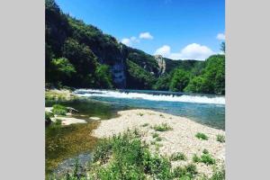
M 193 121 L 225 130 L 225 97 L 212 94 L 184 94 L 144 90 L 94 90 L 77 89 L 74 94 L 82 97 L 71 101 L 46 101 L 46 106 L 59 103 L 73 107 L 76 118 L 89 121 L 89 117 L 102 120 L 116 117 L 118 111 L 144 108 L 184 116 Z M 80 164 L 91 159 L 90 151 L 96 140 L 90 132 L 96 121 L 72 124 L 65 127 L 46 128 L 46 173 L 63 173 L 72 169 L 78 157 Z

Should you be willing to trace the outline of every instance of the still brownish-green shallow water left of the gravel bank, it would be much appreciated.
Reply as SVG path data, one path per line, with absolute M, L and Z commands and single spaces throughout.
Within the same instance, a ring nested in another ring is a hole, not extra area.
M 73 116 L 88 122 L 68 126 L 51 124 L 46 127 L 46 175 L 55 170 L 60 172 L 66 167 L 68 169 L 76 156 L 79 156 L 82 162 L 89 160 L 90 151 L 97 141 L 91 136 L 91 132 L 99 124 L 98 121 L 90 121 L 89 117 L 110 119 L 116 117 L 118 111 L 128 109 L 126 106 L 115 106 L 85 98 L 69 101 L 49 100 L 45 105 L 49 107 L 56 103 L 75 108 L 79 112 Z

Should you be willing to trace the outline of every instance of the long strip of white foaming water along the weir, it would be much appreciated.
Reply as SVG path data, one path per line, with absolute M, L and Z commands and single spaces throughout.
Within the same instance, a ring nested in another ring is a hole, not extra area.
M 75 94 L 85 97 L 114 97 L 127 99 L 144 99 L 150 101 L 184 102 L 184 103 L 215 103 L 225 104 L 225 97 L 208 97 L 206 95 L 167 95 L 167 94 L 143 94 L 125 93 L 117 91 L 96 90 L 96 89 L 77 89 Z

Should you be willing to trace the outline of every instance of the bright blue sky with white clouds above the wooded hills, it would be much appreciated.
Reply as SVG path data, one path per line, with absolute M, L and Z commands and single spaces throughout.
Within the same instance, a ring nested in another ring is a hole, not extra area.
M 225 40 L 225 0 L 56 0 L 64 13 L 130 47 L 205 59 Z

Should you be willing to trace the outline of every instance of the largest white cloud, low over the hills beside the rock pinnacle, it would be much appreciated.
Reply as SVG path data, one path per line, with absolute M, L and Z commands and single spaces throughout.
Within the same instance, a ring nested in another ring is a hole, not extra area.
M 180 52 L 171 52 L 171 48 L 168 45 L 164 45 L 161 48 L 157 49 L 154 53 L 155 55 L 162 55 L 165 58 L 172 59 L 196 59 L 196 60 L 205 60 L 211 55 L 215 54 L 207 46 L 202 46 L 197 43 L 192 43 L 181 49 Z

